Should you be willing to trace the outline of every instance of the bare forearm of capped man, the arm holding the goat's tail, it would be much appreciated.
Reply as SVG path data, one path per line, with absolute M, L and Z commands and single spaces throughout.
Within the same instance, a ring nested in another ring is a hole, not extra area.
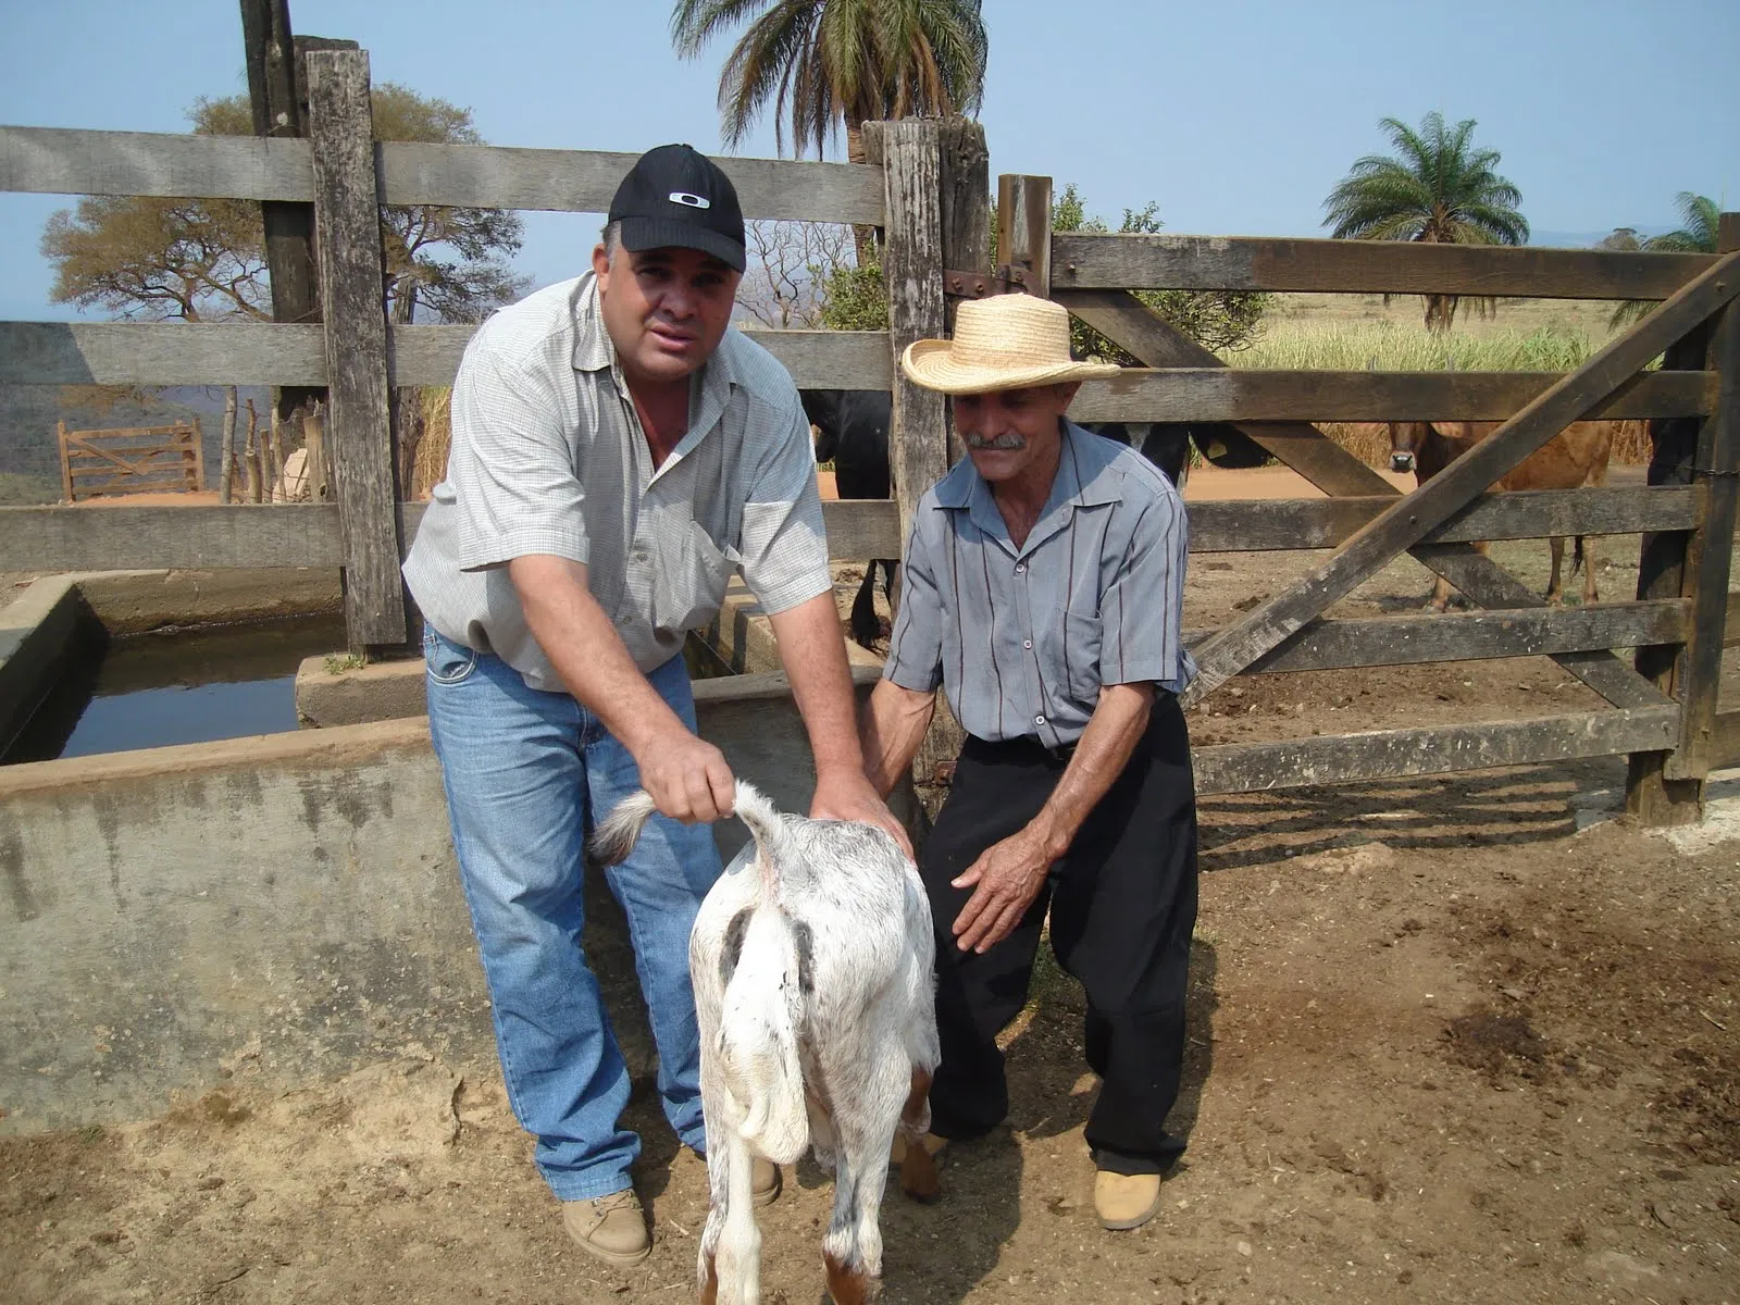
M 635 666 L 592 590 L 586 567 L 562 557 L 508 562 L 525 626 L 567 691 L 633 755 L 647 740 L 687 727 Z

